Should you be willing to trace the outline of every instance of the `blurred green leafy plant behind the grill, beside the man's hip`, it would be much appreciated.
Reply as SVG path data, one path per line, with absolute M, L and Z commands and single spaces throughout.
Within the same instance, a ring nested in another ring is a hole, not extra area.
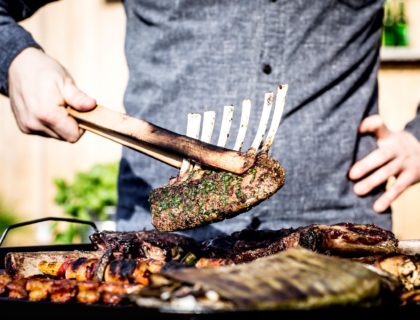
M 56 178 L 54 201 L 65 216 L 90 221 L 104 221 L 107 210 L 117 204 L 118 163 L 97 164 L 86 172 L 76 173 L 72 182 Z M 56 243 L 81 242 L 90 227 L 69 223 L 62 230 L 52 225 Z

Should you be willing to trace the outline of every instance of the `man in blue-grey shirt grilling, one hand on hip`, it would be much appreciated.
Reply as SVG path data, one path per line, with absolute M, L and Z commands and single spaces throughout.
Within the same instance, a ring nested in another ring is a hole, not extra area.
M 1 90 L 23 132 L 74 142 L 81 131 L 63 106 L 89 110 L 95 100 L 15 22 L 47 2 L 0 0 Z M 382 1 L 124 5 L 130 71 L 125 108 L 132 116 L 184 133 L 187 112 L 251 98 L 252 139 L 264 92 L 289 84 L 272 148 L 286 168 L 285 186 L 251 212 L 190 234 L 342 221 L 391 228 L 391 202 L 420 180 L 420 118 L 405 131 L 390 132 L 376 115 Z M 152 228 L 147 193 L 174 174 L 124 149 L 118 228 Z M 396 182 L 383 193 L 391 176 Z

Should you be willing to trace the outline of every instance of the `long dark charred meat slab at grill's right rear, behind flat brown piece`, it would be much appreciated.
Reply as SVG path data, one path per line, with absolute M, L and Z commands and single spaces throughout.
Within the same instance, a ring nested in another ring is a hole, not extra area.
M 244 230 L 205 241 L 200 251 L 205 257 L 241 263 L 296 247 L 337 256 L 366 256 L 395 253 L 397 246 L 390 231 L 374 225 L 339 223 L 276 231 Z

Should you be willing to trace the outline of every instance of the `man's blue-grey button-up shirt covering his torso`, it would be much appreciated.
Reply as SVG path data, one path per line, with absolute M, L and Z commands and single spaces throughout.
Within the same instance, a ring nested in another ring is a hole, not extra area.
M 0 0 L 0 8 L 11 2 Z M 188 234 L 206 238 L 249 226 L 273 229 L 342 221 L 391 228 L 389 214 L 372 210 L 384 188 L 360 198 L 347 178 L 351 165 L 376 147 L 372 136 L 357 134 L 357 127 L 367 115 L 378 112 L 382 0 L 126 0 L 124 4 L 129 67 L 125 108 L 132 116 L 184 134 L 188 112 L 216 110 L 220 123 L 224 105 L 240 106 L 250 98 L 253 110 L 245 143 L 249 146 L 264 93 L 279 83 L 289 84 L 272 147 L 272 156 L 286 169 L 285 186 L 250 212 Z M 0 19 L 4 18 L 3 13 Z M 7 36 L 1 21 L 0 48 L 4 48 Z M 1 50 L 4 92 L 8 55 Z M 239 118 L 238 111 L 233 132 Z M 408 126 L 417 137 L 418 121 Z M 229 141 L 228 147 L 232 146 Z M 147 194 L 176 173 L 124 149 L 119 229 L 152 228 Z

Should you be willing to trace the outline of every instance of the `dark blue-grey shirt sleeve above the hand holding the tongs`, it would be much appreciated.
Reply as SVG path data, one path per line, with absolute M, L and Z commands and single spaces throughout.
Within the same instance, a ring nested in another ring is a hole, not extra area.
M 52 1 L 0 0 L 0 93 L 8 95 L 8 71 L 13 59 L 25 48 L 41 48 L 18 22 Z

